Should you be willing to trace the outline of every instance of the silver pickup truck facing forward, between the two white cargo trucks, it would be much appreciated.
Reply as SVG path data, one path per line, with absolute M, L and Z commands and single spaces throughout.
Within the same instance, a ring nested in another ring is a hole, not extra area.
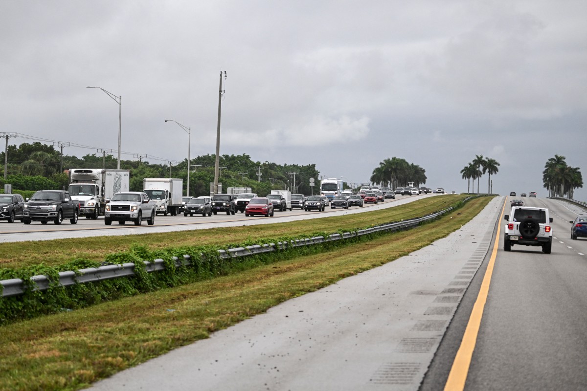
M 134 225 L 141 225 L 144 217 L 147 217 L 149 225 L 155 223 L 155 203 L 150 202 L 147 193 L 116 193 L 112 199 L 107 200 L 104 212 L 106 225 L 112 225 L 113 221 L 117 221 L 120 225 L 127 221 L 134 222 Z

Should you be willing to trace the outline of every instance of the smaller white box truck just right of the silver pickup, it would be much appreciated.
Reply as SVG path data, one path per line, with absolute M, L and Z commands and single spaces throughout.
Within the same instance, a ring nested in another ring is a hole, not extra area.
M 176 216 L 182 206 L 183 179 L 144 178 L 143 191 L 155 203 L 155 213 Z

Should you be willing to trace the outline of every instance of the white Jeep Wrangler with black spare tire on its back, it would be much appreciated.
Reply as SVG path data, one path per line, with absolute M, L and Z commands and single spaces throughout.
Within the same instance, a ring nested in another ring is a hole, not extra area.
M 552 217 L 546 208 L 530 208 L 514 206 L 510 215 L 505 215 L 504 251 L 510 251 L 514 244 L 524 246 L 541 246 L 542 252 L 551 253 L 552 248 Z

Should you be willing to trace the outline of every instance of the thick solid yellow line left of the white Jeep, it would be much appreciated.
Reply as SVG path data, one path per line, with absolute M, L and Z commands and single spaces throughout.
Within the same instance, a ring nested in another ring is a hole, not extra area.
M 495 257 L 497 257 L 497 249 L 500 243 L 501 219 L 504 215 L 506 201 L 507 199 L 504 201 L 504 206 L 501 208 L 500 221 L 497 224 L 497 232 L 495 233 L 495 242 L 493 244 L 493 250 L 491 251 L 491 258 L 487 264 L 487 270 L 485 271 L 485 276 L 481 283 L 481 289 L 477 295 L 477 301 L 475 301 L 473 311 L 471 311 L 471 316 L 469 317 L 469 322 L 465 329 L 465 334 L 463 335 L 463 341 L 461 341 L 461 346 L 458 348 L 453 366 L 448 374 L 446 385 L 444 385 L 444 390 L 447 391 L 461 391 L 465 388 L 469 366 L 471 365 L 471 358 L 473 358 L 473 351 L 475 350 L 475 344 L 477 343 L 477 335 L 479 334 L 479 328 L 481 327 L 481 318 L 483 317 L 485 302 L 487 301 L 487 295 L 489 293 L 489 285 L 491 284 Z

